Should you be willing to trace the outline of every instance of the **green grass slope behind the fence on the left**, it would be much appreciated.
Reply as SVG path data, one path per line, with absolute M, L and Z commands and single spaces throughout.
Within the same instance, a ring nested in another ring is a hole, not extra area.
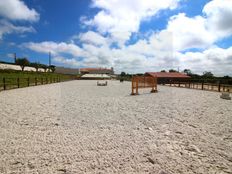
M 56 73 L 0 70 L 0 90 L 62 82 L 74 78 L 75 76 Z

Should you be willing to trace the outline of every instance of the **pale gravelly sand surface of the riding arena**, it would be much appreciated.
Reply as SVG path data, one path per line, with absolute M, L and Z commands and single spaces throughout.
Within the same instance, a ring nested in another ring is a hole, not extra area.
M 0 92 L 0 173 L 232 174 L 232 100 L 96 84 Z

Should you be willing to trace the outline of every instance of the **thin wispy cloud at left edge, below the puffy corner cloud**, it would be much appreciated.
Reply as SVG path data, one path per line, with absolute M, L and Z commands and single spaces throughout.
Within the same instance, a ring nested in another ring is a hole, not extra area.
M 36 32 L 33 27 L 15 26 L 6 20 L 0 20 L 0 40 L 5 34 Z

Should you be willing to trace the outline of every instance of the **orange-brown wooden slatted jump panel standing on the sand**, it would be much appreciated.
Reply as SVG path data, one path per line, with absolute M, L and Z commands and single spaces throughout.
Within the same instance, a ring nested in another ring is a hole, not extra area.
M 151 88 L 151 93 L 157 92 L 157 78 L 151 76 L 133 76 L 131 95 L 138 95 L 139 88 Z

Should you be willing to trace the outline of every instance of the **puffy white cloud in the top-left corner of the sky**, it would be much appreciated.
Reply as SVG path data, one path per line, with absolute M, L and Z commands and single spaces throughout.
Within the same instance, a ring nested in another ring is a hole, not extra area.
M 0 16 L 10 20 L 38 21 L 39 14 L 21 0 L 1 0 Z

